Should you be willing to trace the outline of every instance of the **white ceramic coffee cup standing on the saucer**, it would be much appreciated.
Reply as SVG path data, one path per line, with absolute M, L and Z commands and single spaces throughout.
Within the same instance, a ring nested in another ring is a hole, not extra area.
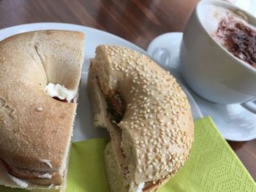
M 217 104 L 240 103 L 256 112 L 256 69 L 222 47 L 203 26 L 200 13 L 207 4 L 234 11 L 238 7 L 224 1 L 200 1 L 189 18 L 181 42 L 180 71 L 190 88 Z M 241 11 L 243 12 L 243 11 Z M 244 13 L 256 26 L 256 18 Z M 209 20 L 211 22 L 211 20 Z

